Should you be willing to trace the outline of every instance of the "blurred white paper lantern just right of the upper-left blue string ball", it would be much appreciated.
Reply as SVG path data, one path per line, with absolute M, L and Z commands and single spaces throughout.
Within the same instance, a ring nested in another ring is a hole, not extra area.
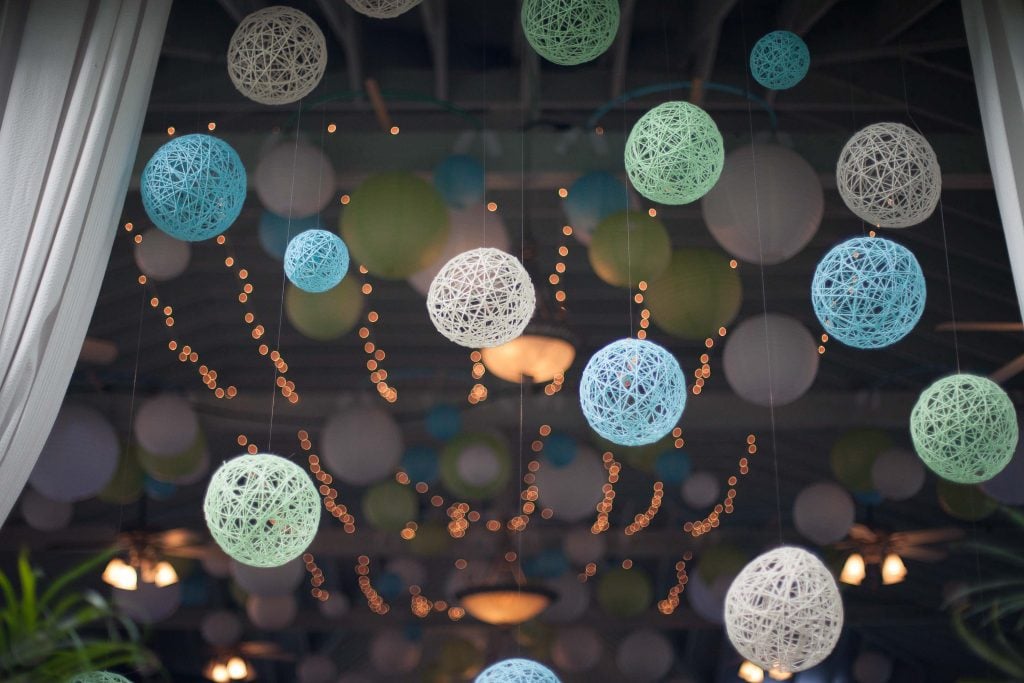
M 259 201 L 271 213 L 305 218 L 334 200 L 334 166 L 319 147 L 281 142 L 260 159 L 253 183 Z M 292 237 L 298 233 L 296 226 Z

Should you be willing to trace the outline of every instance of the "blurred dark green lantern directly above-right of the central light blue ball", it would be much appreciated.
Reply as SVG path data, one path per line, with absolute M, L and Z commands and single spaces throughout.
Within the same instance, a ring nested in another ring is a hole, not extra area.
M 647 283 L 644 303 L 669 334 L 703 341 L 735 319 L 742 301 L 739 273 L 712 249 L 678 249 L 669 267 Z

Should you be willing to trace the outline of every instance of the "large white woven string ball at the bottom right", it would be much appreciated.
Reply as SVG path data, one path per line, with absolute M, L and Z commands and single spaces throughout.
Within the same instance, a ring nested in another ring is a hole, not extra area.
M 843 600 L 821 560 L 782 546 L 756 557 L 733 580 L 725 630 L 736 651 L 762 669 L 804 671 L 839 642 Z

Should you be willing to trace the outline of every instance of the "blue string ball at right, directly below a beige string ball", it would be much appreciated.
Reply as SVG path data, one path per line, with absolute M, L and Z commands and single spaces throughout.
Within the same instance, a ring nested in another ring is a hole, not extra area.
M 821 327 L 854 348 L 882 348 L 909 334 L 925 310 L 926 294 L 913 253 L 883 238 L 853 238 L 833 247 L 811 282 Z

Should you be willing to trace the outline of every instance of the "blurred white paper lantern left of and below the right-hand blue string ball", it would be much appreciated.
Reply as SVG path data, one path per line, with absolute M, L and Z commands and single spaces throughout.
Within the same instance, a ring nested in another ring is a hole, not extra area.
M 818 345 L 807 328 L 788 315 L 754 315 L 729 331 L 722 366 L 729 386 L 744 400 L 785 405 L 814 383 Z

